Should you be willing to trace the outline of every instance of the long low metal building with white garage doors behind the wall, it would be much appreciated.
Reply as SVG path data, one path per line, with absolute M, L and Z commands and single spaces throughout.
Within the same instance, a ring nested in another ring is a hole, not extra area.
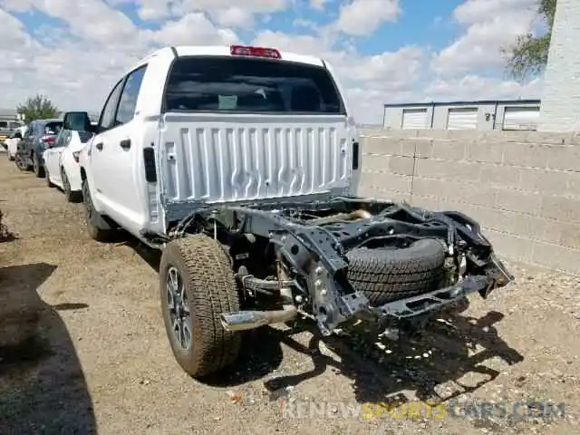
M 389 130 L 536 131 L 539 111 L 539 100 L 385 104 L 382 126 Z

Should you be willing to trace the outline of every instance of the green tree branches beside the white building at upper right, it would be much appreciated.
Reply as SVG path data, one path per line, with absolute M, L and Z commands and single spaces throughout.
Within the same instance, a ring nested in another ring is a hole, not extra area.
M 516 43 L 504 50 L 507 67 L 511 75 L 519 81 L 542 73 L 547 63 L 547 53 L 552 38 L 552 26 L 556 14 L 557 0 L 539 0 L 537 14 L 546 24 L 546 34 L 534 36 L 525 34 L 517 37 Z

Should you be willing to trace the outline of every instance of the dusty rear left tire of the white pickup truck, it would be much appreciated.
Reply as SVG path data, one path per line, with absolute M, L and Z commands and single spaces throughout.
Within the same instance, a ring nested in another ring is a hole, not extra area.
M 193 314 L 189 348 L 174 333 L 175 319 L 169 310 L 167 283 L 169 271 L 175 269 L 182 279 L 184 304 Z M 169 242 L 160 262 L 160 299 L 171 350 L 185 372 L 202 378 L 236 362 L 242 335 L 226 331 L 219 317 L 238 311 L 240 300 L 230 259 L 216 240 L 197 235 Z

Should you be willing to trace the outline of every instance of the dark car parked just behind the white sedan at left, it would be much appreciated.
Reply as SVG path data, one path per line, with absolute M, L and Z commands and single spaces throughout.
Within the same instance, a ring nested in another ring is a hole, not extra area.
M 42 179 L 44 177 L 43 152 L 56 140 L 62 127 L 62 119 L 32 121 L 16 148 L 14 160 L 18 169 L 33 169 L 36 177 Z

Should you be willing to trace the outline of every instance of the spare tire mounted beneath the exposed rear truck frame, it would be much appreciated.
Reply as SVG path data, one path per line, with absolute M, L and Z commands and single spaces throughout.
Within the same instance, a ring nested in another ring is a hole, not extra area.
M 346 255 L 348 279 L 372 306 L 436 290 L 443 277 L 445 248 L 425 238 L 403 248 L 358 247 Z

